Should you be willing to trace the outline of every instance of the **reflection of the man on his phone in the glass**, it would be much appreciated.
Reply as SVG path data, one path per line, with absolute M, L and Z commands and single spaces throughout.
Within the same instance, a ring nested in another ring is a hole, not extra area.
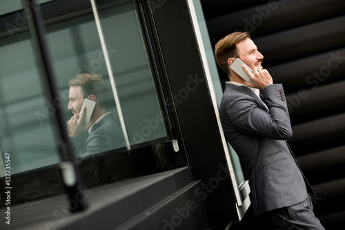
M 95 153 L 119 148 L 124 143 L 124 135 L 121 127 L 106 111 L 106 99 L 108 90 L 103 79 L 98 75 L 81 74 L 70 79 L 70 102 L 68 109 L 73 116 L 67 122 L 68 135 L 72 138 L 77 148 L 81 147 L 83 140 L 83 152 L 77 151 L 76 156 L 87 156 Z M 86 126 L 82 124 L 82 118 L 86 113 L 83 108 L 81 116 L 79 112 L 85 98 L 96 102 L 90 123 Z

